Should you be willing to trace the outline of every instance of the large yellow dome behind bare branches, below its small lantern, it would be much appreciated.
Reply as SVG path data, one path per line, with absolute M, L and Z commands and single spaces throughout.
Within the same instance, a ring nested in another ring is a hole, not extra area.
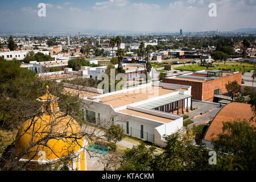
M 60 111 L 44 113 L 24 122 L 16 135 L 15 150 L 27 150 L 31 143 L 35 146 L 25 151 L 23 159 L 38 160 L 40 151 L 45 152 L 46 160 L 59 159 L 80 150 L 84 143 L 80 137 L 81 129 L 75 119 Z

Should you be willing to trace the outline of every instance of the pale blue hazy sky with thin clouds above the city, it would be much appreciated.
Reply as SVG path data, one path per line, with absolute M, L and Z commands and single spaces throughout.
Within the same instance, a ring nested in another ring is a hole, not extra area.
M 46 3 L 46 16 L 38 16 Z M 209 4 L 217 16 L 209 16 Z M 256 28 L 256 0 L 0 0 L 0 32 L 199 32 Z

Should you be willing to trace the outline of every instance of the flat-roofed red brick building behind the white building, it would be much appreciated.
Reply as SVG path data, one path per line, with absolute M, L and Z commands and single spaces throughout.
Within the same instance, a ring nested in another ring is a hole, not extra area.
M 170 84 L 179 84 L 179 85 L 189 85 L 191 86 L 191 95 L 193 99 L 200 101 L 209 101 L 213 102 L 214 92 L 215 94 L 224 94 L 228 91 L 225 88 L 225 84 L 228 82 L 237 81 L 241 85 L 242 82 L 242 73 L 241 72 L 230 72 L 226 73 L 224 76 L 214 79 L 209 79 L 205 77 L 205 80 L 202 77 L 197 79 L 196 76 L 189 78 L 187 77 L 169 77 L 163 78 L 163 82 Z

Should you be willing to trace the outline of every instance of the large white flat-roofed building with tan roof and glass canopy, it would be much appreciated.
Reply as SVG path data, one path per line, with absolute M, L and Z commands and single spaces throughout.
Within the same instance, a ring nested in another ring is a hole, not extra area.
M 164 138 L 183 128 L 183 117 L 174 111 L 188 109 L 191 97 L 191 86 L 151 82 L 84 97 L 82 116 L 85 121 L 106 128 L 114 122 L 127 135 L 164 147 Z

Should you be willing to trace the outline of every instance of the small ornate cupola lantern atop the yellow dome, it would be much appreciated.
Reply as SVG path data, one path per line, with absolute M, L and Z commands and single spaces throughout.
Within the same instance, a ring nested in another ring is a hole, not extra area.
M 50 94 L 48 89 L 49 89 L 49 86 L 46 85 L 46 94 L 44 94 L 44 96 L 38 97 L 36 101 L 38 101 L 41 104 L 43 113 L 52 114 L 59 111 L 59 107 L 57 103 L 59 98 Z

